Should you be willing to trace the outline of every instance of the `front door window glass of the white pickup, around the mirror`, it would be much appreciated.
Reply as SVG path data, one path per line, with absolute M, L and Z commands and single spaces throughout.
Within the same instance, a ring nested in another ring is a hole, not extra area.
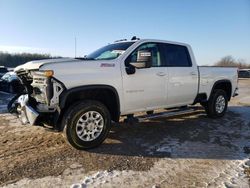
M 161 55 L 159 46 L 156 43 L 145 43 L 139 46 L 134 52 L 132 52 L 126 60 L 126 66 L 128 66 L 129 62 L 136 62 L 137 53 L 139 50 L 147 50 L 152 54 L 152 67 L 160 67 L 161 63 Z

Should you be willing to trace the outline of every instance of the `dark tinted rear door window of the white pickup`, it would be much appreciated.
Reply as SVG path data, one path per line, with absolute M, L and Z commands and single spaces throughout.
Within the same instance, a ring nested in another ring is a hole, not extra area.
M 173 44 L 164 45 L 164 56 L 170 67 L 192 66 L 187 47 Z

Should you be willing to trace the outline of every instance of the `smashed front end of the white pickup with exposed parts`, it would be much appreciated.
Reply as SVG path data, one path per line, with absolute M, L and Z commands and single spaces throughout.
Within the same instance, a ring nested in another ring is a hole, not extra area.
M 10 101 L 8 109 L 17 113 L 23 124 L 37 124 L 38 120 L 55 123 L 60 114 L 59 96 L 64 85 L 53 77 L 53 71 L 17 71 L 25 91 Z

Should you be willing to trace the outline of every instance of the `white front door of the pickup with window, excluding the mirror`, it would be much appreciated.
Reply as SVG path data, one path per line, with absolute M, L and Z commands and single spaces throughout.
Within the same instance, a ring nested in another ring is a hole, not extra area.
M 125 60 L 125 66 L 136 62 L 139 50 L 147 50 L 152 55 L 152 67 L 136 69 L 128 74 L 122 70 L 124 113 L 146 111 L 166 105 L 167 68 L 162 67 L 162 56 L 157 43 L 144 43 Z

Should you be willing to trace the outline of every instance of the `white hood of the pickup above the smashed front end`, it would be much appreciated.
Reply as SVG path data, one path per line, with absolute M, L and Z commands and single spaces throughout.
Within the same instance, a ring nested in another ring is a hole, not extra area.
M 43 59 L 37 61 L 29 61 L 23 65 L 19 65 L 14 69 L 14 72 L 24 71 L 24 70 L 38 70 L 42 65 L 50 63 L 63 63 L 63 62 L 73 62 L 79 61 L 73 58 L 57 58 L 57 59 Z

